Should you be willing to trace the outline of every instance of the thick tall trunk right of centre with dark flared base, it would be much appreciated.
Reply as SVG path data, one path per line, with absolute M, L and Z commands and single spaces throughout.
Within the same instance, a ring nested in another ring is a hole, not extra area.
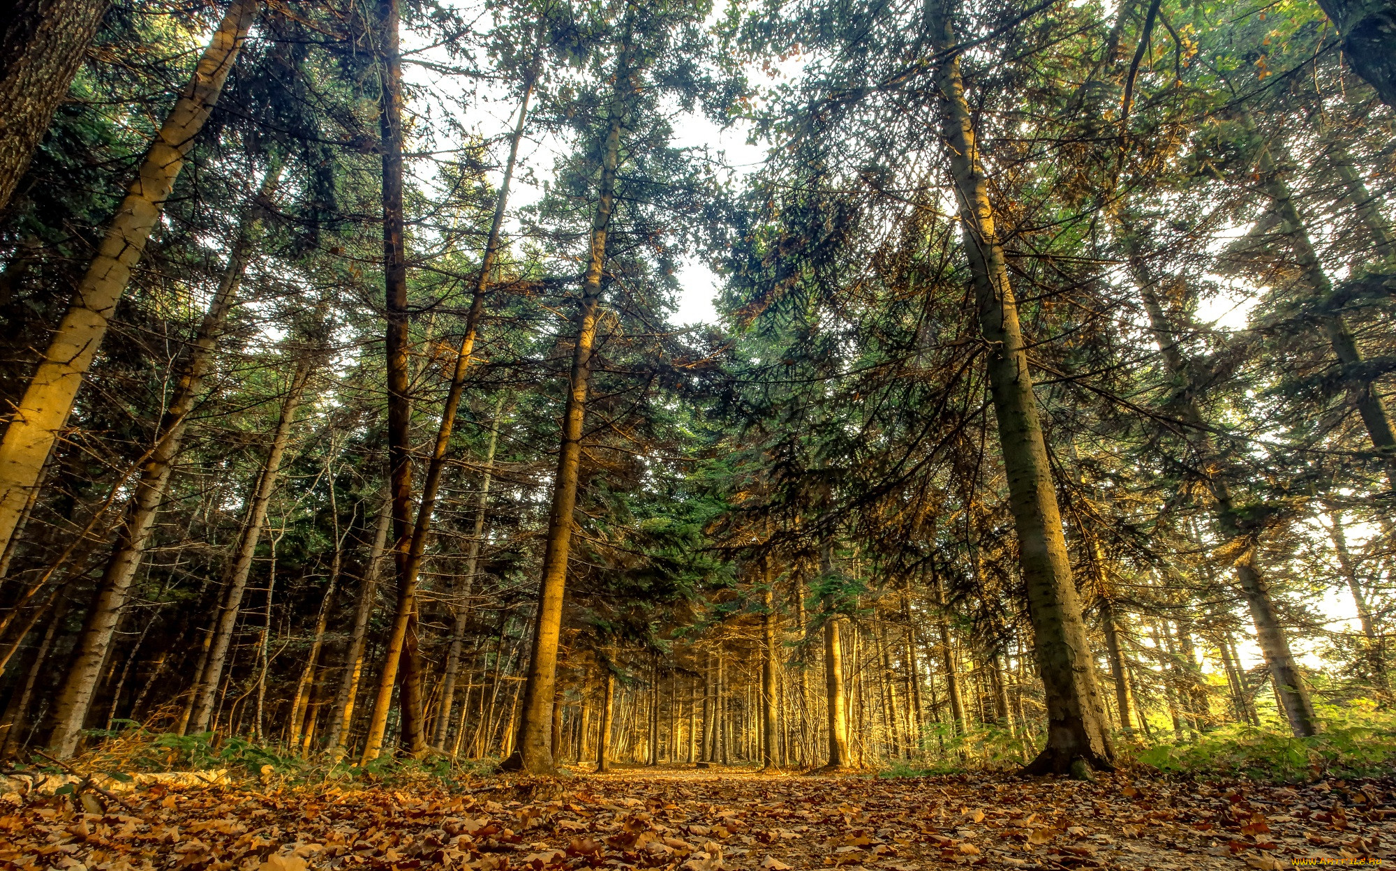
M 1029 770 L 1074 770 L 1085 776 L 1082 765 L 1113 769 L 1114 750 L 1101 713 L 1094 662 L 1037 420 L 1018 306 L 994 230 L 988 187 L 979 166 L 956 36 L 942 6 L 946 1 L 930 4 L 933 45 L 945 59 L 937 71 L 944 134 L 979 302 L 980 331 L 988 343 L 990 391 L 1047 704 L 1047 747 Z

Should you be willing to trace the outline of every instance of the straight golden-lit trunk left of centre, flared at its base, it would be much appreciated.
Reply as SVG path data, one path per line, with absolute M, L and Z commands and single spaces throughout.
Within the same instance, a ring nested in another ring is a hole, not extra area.
M 582 430 L 586 417 L 586 388 L 591 378 L 592 346 L 596 339 L 596 313 L 606 265 L 606 236 L 616 205 L 616 169 L 620 163 L 620 138 L 627 106 L 634 92 L 628 46 L 616 70 L 616 84 L 609 107 L 606 140 L 602 147 L 602 173 L 592 219 L 591 253 L 582 281 L 582 299 L 577 315 L 577 339 L 568 378 L 567 403 L 563 409 L 563 441 L 557 452 L 553 482 L 553 505 L 547 518 L 547 543 L 539 583 L 537 617 L 533 648 L 524 684 L 524 712 L 518 734 L 518 758 L 505 759 L 504 768 L 530 773 L 553 770 L 547 747 L 553 687 L 557 680 L 557 643 L 563 630 L 563 599 L 567 592 L 567 560 L 572 542 L 572 512 L 577 507 L 577 482 L 582 455 Z

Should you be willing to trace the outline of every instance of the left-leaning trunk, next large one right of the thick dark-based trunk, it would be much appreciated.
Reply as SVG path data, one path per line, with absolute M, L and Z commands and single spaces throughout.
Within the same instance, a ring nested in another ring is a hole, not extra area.
M 1161 352 L 1164 367 L 1182 398 L 1181 412 L 1184 420 L 1195 433 L 1192 444 L 1202 455 L 1202 468 L 1206 469 L 1206 483 L 1216 504 L 1217 528 L 1235 551 L 1233 557 L 1235 576 L 1240 582 L 1241 593 L 1245 596 L 1247 606 L 1251 609 L 1256 641 L 1259 641 L 1265 663 L 1270 669 L 1275 685 L 1282 688 L 1280 698 L 1284 702 L 1284 713 L 1294 734 L 1315 734 L 1318 731 L 1318 719 L 1314 713 L 1314 704 L 1309 701 L 1308 690 L 1290 650 L 1289 638 L 1286 638 L 1284 628 L 1280 625 L 1275 602 L 1270 599 L 1269 585 L 1265 582 L 1265 576 L 1256 564 L 1256 533 L 1242 528 L 1240 516 L 1235 512 L 1231 501 L 1231 489 L 1222 470 L 1220 456 L 1212 444 L 1212 438 L 1208 436 L 1209 427 L 1203 422 L 1194 387 L 1188 377 L 1188 371 L 1191 371 L 1188 362 L 1178 348 L 1177 332 L 1164 314 L 1163 304 L 1154 290 L 1153 276 L 1149 274 L 1142 257 L 1141 240 L 1128 221 L 1121 221 L 1121 229 L 1125 233 L 1125 241 L 1129 247 L 1131 268 L 1139 285 L 1139 297 L 1149 315 L 1149 327 Z

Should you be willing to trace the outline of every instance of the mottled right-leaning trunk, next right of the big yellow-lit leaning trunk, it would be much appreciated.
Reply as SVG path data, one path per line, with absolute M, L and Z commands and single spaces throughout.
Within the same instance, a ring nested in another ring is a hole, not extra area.
M 261 198 L 272 194 L 279 177 L 279 168 L 268 170 L 261 187 Z M 77 748 L 78 736 L 87 720 L 88 709 L 92 705 L 92 694 L 98 687 L 98 677 L 102 664 L 106 662 L 112 646 L 112 636 L 116 624 L 126 606 L 127 592 L 135 578 L 135 570 L 145 554 L 145 543 L 149 539 L 151 526 L 159 511 L 165 490 L 169 486 L 170 472 L 179 458 L 184 444 L 184 431 L 188 415 L 194 410 L 194 403 L 202 394 L 204 375 L 212 357 L 214 346 L 228 321 L 228 313 L 233 307 L 237 289 L 242 285 L 243 271 L 251 254 L 253 236 L 260 225 L 260 211 L 250 209 L 237 232 L 229 253 L 228 265 L 223 269 L 222 281 L 214 292 L 204 321 L 198 334 L 190 345 L 188 356 L 184 359 L 181 371 L 174 384 L 169 408 L 161 420 L 156 431 L 155 447 L 149 458 L 141 466 L 141 476 L 135 483 L 135 491 L 127 502 L 121 525 L 117 528 L 116 543 L 112 546 L 112 556 L 107 558 L 106 570 L 98 585 L 98 595 L 88 610 L 87 623 L 78 641 L 78 652 L 68 669 L 63 690 L 59 692 L 59 702 L 54 710 L 54 727 L 49 737 L 49 745 L 59 758 L 68 758 Z

